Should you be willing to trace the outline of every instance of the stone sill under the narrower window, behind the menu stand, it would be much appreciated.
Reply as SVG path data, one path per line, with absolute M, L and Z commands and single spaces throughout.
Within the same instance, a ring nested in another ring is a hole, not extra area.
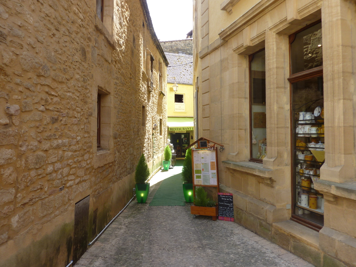
M 247 172 L 254 175 L 261 176 L 263 178 L 272 178 L 272 169 L 263 168 L 262 163 L 256 163 L 251 161 L 222 161 L 223 166 L 226 168 L 234 169 L 236 171 Z

